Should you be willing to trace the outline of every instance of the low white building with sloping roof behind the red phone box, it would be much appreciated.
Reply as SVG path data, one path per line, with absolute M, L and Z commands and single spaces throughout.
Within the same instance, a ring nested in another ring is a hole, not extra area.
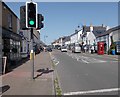
M 116 53 L 120 53 L 119 31 L 120 31 L 120 26 L 116 26 L 116 27 L 110 28 L 105 33 L 99 35 L 96 38 L 97 42 L 104 42 L 105 53 L 108 53 L 108 51 L 110 50 L 112 41 L 116 44 Z

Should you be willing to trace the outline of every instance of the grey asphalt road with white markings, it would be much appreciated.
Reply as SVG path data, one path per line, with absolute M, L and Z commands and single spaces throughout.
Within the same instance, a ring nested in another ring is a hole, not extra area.
M 53 50 L 63 95 L 117 95 L 118 61 L 108 56 Z

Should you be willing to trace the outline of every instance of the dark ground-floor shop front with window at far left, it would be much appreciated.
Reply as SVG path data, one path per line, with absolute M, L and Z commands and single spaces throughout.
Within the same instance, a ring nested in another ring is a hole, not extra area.
M 3 56 L 7 57 L 10 65 L 16 64 L 17 61 L 21 60 L 20 55 L 20 41 L 21 36 L 11 32 L 9 30 L 2 30 L 3 40 Z

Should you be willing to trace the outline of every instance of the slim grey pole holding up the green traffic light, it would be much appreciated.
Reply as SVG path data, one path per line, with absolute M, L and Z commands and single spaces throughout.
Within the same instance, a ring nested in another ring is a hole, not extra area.
M 33 28 L 31 28 L 31 78 L 34 79 L 34 50 L 33 50 Z

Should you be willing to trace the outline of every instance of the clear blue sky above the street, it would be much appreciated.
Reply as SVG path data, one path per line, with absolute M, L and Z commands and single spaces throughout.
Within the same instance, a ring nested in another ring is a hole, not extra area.
M 25 2 L 6 2 L 20 18 L 20 6 Z M 118 25 L 117 2 L 37 2 L 38 13 L 44 16 L 41 40 L 50 44 L 55 39 L 75 32 L 78 25 L 110 27 Z M 48 36 L 48 37 L 45 37 Z

